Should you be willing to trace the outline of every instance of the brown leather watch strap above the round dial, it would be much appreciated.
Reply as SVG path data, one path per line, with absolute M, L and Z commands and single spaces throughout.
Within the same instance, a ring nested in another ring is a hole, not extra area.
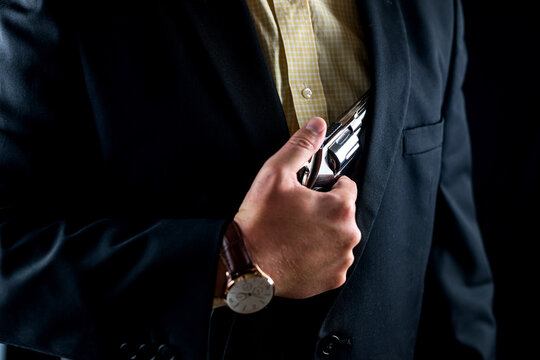
M 235 221 L 225 229 L 221 257 L 232 278 L 255 267 L 244 244 L 242 231 Z

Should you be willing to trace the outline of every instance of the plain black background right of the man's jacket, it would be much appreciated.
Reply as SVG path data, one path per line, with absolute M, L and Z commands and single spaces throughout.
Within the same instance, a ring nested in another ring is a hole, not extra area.
M 540 11 L 536 1 L 462 0 L 474 188 L 495 278 L 498 359 L 538 354 Z

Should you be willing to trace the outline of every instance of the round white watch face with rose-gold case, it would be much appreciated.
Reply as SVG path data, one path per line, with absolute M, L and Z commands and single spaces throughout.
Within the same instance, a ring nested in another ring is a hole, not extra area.
M 227 292 L 227 305 L 240 314 L 263 309 L 274 296 L 274 283 L 260 274 L 247 274 L 234 280 Z

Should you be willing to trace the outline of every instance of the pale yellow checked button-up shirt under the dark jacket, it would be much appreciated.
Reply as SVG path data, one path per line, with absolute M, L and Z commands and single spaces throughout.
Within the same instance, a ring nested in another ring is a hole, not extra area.
M 247 0 L 294 133 L 332 121 L 369 88 L 355 0 Z

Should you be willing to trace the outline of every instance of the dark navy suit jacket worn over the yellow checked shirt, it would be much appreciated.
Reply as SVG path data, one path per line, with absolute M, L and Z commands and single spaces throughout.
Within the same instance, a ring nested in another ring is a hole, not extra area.
M 306 305 L 305 352 L 492 358 L 459 1 L 359 13 L 374 89 L 349 172 L 363 239 L 346 285 Z M 245 3 L 2 0 L 0 69 L 0 342 L 205 358 L 223 226 L 288 138 Z M 286 358 L 275 331 L 292 321 L 270 323 L 295 305 L 276 304 L 217 312 L 212 356 L 247 343 L 244 357 Z

